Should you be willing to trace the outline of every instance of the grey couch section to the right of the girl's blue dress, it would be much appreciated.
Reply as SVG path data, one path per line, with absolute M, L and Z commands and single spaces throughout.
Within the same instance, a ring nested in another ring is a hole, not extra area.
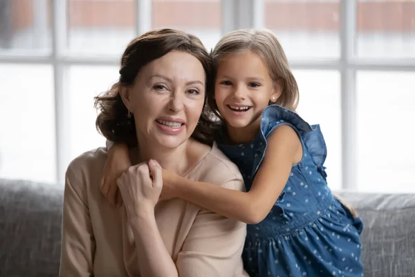
M 366 276 L 415 276 L 415 195 L 339 193 L 365 224 Z

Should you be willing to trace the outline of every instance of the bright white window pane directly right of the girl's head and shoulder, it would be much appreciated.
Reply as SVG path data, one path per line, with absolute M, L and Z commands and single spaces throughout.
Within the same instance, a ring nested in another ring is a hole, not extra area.
M 299 87 L 297 112 L 310 125 L 320 124 L 327 146 L 324 163 L 333 190 L 342 186 L 342 129 L 338 71 L 293 71 Z

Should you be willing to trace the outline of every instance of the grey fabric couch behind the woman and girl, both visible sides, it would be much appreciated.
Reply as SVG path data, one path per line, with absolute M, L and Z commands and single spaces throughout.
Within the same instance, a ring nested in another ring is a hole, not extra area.
M 415 276 L 415 195 L 340 193 L 365 222 L 365 276 Z M 62 186 L 0 179 L 0 276 L 57 276 Z

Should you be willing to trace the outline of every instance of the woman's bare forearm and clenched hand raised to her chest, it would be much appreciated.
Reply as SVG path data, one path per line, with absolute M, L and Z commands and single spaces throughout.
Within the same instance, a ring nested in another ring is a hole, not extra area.
M 152 179 L 150 179 L 150 171 Z M 161 167 L 155 163 L 131 166 L 118 179 L 118 187 L 138 253 L 141 276 L 178 276 L 176 265 L 168 253 L 154 217 L 163 186 Z

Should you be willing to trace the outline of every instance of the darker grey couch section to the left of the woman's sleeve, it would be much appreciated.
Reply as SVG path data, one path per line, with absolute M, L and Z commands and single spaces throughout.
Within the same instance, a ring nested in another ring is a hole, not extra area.
M 57 276 L 64 186 L 0 179 L 0 276 Z

